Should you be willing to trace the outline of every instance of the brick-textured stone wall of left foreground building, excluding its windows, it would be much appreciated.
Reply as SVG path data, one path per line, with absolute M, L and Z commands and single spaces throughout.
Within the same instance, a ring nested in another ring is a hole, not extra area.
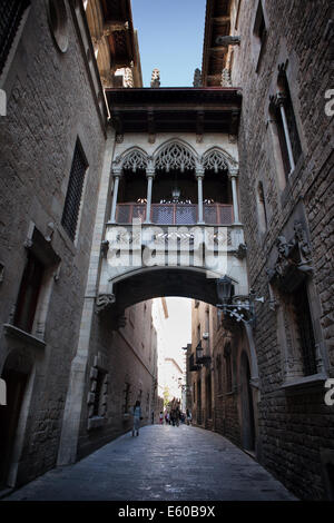
M 29 336 L 22 339 L 4 335 L 1 327 L 0 371 L 14 349 L 22 357 L 29 354 L 33 361 L 27 388 L 29 402 L 21 413 L 16 438 L 18 483 L 32 480 L 56 463 L 105 149 L 101 115 L 70 8 L 67 6 L 69 46 L 62 53 L 49 29 L 46 3 L 31 2 L 2 86 L 8 98 L 7 117 L 0 117 L 0 262 L 4 266 L 1 325 L 10 322 L 17 300 L 31 221 L 46 237 L 52 233 L 48 224 L 55 224 L 50 245 L 60 258 L 59 279 L 51 284 L 46 310 L 45 348 L 36 346 Z M 77 137 L 89 168 L 73 243 L 60 221 Z

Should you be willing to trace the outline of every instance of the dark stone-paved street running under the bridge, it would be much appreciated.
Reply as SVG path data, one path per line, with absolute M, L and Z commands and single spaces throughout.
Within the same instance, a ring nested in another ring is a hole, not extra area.
M 55 468 L 8 501 L 281 501 L 295 497 L 225 437 L 150 425 L 75 465 Z

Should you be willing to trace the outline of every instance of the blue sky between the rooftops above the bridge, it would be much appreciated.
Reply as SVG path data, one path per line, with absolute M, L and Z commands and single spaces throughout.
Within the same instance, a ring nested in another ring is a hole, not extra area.
M 153 69 L 161 87 L 193 87 L 202 67 L 206 0 L 131 0 L 144 87 Z

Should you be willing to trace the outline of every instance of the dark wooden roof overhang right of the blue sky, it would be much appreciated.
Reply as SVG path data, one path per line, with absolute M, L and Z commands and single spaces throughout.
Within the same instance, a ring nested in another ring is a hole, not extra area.
M 216 39 L 229 33 L 230 0 L 207 0 L 202 62 L 202 81 L 206 87 L 220 86 L 228 47 L 218 46 Z

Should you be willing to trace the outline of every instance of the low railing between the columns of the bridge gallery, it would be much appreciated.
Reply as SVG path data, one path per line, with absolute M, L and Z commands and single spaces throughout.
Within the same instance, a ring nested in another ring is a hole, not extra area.
M 131 224 L 132 219 L 146 220 L 146 204 L 118 204 L 117 224 Z M 232 225 L 233 206 L 226 204 L 204 205 L 206 225 Z M 153 204 L 150 220 L 155 225 L 196 225 L 198 206 L 194 204 Z

